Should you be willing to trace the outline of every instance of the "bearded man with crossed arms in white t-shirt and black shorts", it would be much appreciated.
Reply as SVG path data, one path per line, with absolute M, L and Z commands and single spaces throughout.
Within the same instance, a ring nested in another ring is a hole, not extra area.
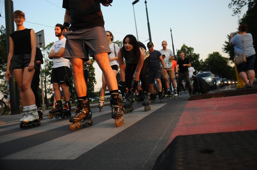
M 70 112 L 71 103 L 70 103 L 70 92 L 68 90 L 69 79 L 71 75 L 69 59 L 65 59 L 64 49 L 66 38 L 62 35 L 62 24 L 56 24 L 55 26 L 55 35 L 59 38 L 53 46 L 50 54 L 48 55 L 49 59 L 53 59 L 53 69 L 51 74 L 51 83 L 53 84 L 56 106 L 49 113 L 60 113 Z M 65 99 L 64 108 L 62 108 L 61 101 L 61 91 L 59 87 L 62 87 L 63 96 Z

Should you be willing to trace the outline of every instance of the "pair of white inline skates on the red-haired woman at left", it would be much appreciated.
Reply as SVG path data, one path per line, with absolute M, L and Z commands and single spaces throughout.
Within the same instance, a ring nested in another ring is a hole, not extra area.
M 29 107 L 23 109 L 23 117 L 20 120 L 20 128 L 26 129 L 27 127 L 31 126 L 40 126 L 41 122 L 38 118 L 36 106 L 35 107 Z

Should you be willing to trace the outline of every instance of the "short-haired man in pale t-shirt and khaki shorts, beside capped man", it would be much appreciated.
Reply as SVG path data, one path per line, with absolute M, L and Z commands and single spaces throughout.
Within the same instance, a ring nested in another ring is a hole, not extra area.
M 174 80 L 175 78 L 175 73 L 174 73 L 174 70 L 173 70 L 173 65 L 172 65 L 172 56 L 173 53 L 170 49 L 167 49 L 167 42 L 166 41 L 162 41 L 161 42 L 161 45 L 162 45 L 162 49 L 159 50 L 160 53 L 162 54 L 162 58 L 164 60 L 164 63 L 165 63 L 165 66 L 167 68 L 167 74 L 164 74 L 163 73 L 163 67 L 161 67 L 161 72 L 162 72 L 162 78 L 163 80 L 165 80 L 166 82 L 166 87 L 167 87 L 167 94 L 169 97 L 171 97 L 171 88 L 170 88 L 170 83 L 169 83 L 169 77 L 170 77 L 170 80 L 171 80 L 171 83 L 172 83 L 172 87 L 173 87 L 173 92 L 174 92 L 174 96 L 178 96 L 178 93 L 177 93 L 177 87 L 176 87 L 176 82 Z M 169 75 L 169 77 L 168 77 Z

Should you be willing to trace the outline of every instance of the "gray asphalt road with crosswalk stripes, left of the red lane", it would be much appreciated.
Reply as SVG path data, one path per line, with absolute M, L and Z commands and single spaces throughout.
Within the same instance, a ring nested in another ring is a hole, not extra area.
M 217 88 L 211 92 L 235 88 Z M 68 119 L 48 119 L 21 129 L 19 122 L 0 125 L 0 167 L 4 169 L 152 169 L 179 122 L 189 94 L 158 99 L 145 112 L 141 103 L 116 127 L 107 105 L 92 108 L 93 126 L 71 131 Z M 74 114 L 74 112 L 72 113 Z

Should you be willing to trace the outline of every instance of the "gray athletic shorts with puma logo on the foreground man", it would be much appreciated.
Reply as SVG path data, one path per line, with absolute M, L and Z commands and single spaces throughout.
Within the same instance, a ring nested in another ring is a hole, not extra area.
M 111 53 L 106 31 L 103 27 L 74 30 L 65 32 L 65 58 L 81 58 L 85 61 L 100 53 Z

